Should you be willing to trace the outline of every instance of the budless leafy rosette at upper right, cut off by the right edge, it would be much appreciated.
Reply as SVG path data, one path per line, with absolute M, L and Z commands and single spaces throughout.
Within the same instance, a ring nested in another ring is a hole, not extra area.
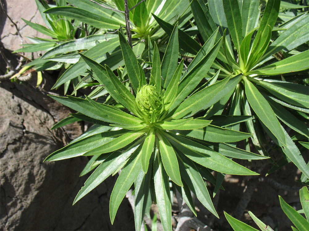
M 304 150 L 302 144 L 308 145 L 309 138 L 309 15 L 308 8 L 303 7 L 273 0 L 267 1 L 266 6 L 256 0 L 191 4 L 204 41 L 217 25 L 223 35 L 222 48 L 210 73 L 221 70 L 219 78 L 242 75 L 234 91 L 208 110 L 205 119 L 215 122 L 222 115 L 255 116 L 245 121 L 246 126 L 226 128 L 252 134 L 254 146 L 247 140 L 247 150 L 255 147 L 265 156 L 281 152 L 280 160 L 269 159 L 277 165 L 270 172 L 292 161 L 303 172 L 301 181 L 305 182 L 309 169 L 300 150 Z M 282 22 L 280 17 L 288 8 L 293 8 L 296 16 Z M 265 139 L 265 133 L 270 139 Z

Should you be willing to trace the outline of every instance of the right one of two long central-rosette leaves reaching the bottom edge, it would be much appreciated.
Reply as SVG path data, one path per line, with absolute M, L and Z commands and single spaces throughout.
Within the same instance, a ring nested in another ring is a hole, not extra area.
M 157 199 L 157 205 L 163 229 L 165 231 L 171 231 L 172 211 L 171 211 L 170 186 L 168 182 L 168 176 L 162 166 L 162 162 L 160 159 L 161 158 L 159 155 L 159 144 L 156 144 L 156 154 L 154 162 L 155 197 Z

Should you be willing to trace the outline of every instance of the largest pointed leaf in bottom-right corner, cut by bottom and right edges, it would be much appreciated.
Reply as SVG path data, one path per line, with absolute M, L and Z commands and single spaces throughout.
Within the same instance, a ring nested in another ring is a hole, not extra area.
M 288 205 L 282 197 L 279 196 L 280 206 L 283 212 L 286 214 L 287 217 L 292 221 L 292 223 L 296 226 L 298 230 L 309 230 L 309 223 L 308 221 L 292 206 Z

